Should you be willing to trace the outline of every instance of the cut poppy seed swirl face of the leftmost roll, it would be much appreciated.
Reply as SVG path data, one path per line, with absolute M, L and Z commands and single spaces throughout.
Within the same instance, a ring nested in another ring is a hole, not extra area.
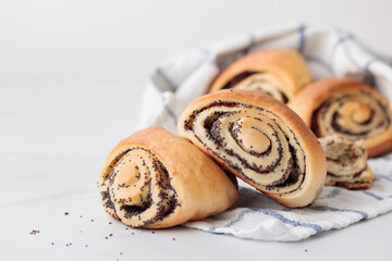
M 100 188 L 107 212 L 134 227 L 159 222 L 177 206 L 167 169 L 151 150 L 138 146 L 113 159 Z

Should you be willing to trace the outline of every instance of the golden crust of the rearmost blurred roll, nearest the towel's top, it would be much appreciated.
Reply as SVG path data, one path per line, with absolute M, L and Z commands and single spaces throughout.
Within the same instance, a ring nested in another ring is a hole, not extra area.
M 233 62 L 218 76 L 209 92 L 224 88 L 234 76 L 245 72 L 271 73 L 282 83 L 289 98 L 313 80 L 305 61 L 296 51 L 271 49 L 253 52 Z

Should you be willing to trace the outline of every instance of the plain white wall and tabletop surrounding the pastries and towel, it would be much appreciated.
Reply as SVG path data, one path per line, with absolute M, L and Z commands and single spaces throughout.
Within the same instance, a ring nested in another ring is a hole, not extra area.
M 389 260 L 391 213 L 292 244 L 183 227 L 130 235 L 102 211 L 96 179 L 133 132 L 161 60 L 290 21 L 332 23 L 392 54 L 391 8 L 388 0 L 0 0 L 0 260 Z

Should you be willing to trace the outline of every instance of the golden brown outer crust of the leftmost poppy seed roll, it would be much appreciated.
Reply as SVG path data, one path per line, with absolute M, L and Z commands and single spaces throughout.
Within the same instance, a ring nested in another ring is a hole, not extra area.
M 131 161 L 136 161 L 137 157 L 140 158 L 143 156 L 144 149 L 147 149 L 148 151 L 151 151 L 151 153 L 148 153 L 148 157 L 143 159 L 146 162 L 146 165 L 150 164 L 150 161 L 154 161 L 154 159 L 157 159 L 157 161 L 163 165 L 169 175 L 168 181 L 170 187 L 172 188 L 168 189 L 168 191 L 173 190 L 173 194 L 175 194 L 175 207 L 171 213 L 168 213 L 162 219 L 158 219 L 154 223 L 147 225 L 139 225 L 137 221 L 134 222 L 131 221 L 131 219 L 126 219 L 126 216 L 120 216 L 122 222 L 127 225 L 147 228 L 163 228 L 174 226 L 187 221 L 200 220 L 213 214 L 218 214 L 230 208 L 237 200 L 238 195 L 236 187 L 211 159 L 209 159 L 189 141 L 175 136 L 161 127 L 150 127 L 137 132 L 131 135 L 128 138 L 122 140 L 110 152 L 99 176 L 98 184 L 101 192 L 107 191 L 108 189 L 105 184 L 108 182 L 108 177 L 112 174 L 110 173 L 110 170 L 113 169 L 112 166 L 113 161 L 115 161 L 114 159 L 119 158 L 119 154 L 122 154 L 124 151 L 130 150 L 131 148 L 143 149 L 140 153 L 132 156 Z M 144 166 L 145 164 L 142 165 Z M 138 165 L 137 170 L 143 166 Z M 134 166 L 130 165 L 128 169 Z M 164 177 L 159 176 L 161 175 L 160 173 L 157 174 L 158 179 L 154 179 L 152 173 L 155 171 L 155 167 L 150 167 L 148 171 L 149 174 L 151 173 L 150 175 L 152 181 L 163 181 Z M 123 179 L 135 179 L 135 176 L 131 174 L 132 173 L 125 173 L 124 175 L 128 175 L 128 177 L 124 177 Z M 114 178 L 120 177 L 115 176 Z M 154 182 L 151 182 L 151 184 L 152 183 Z M 134 184 L 136 183 L 134 182 L 127 185 L 132 185 L 132 189 Z M 139 188 L 140 187 L 137 187 L 135 189 Z M 113 186 L 111 189 L 113 190 Z M 114 190 L 117 187 L 114 187 Z M 131 189 L 125 191 L 119 190 L 118 194 L 123 194 L 121 195 L 121 198 L 132 197 L 134 191 L 131 191 Z M 156 188 L 154 185 L 150 185 L 150 192 L 152 197 L 154 195 L 158 195 L 161 191 L 163 190 Z M 133 201 L 131 201 L 128 204 L 132 204 L 132 202 Z M 115 214 L 115 212 L 113 212 L 110 208 L 107 208 L 108 204 L 106 204 L 105 200 L 102 203 L 109 214 L 111 214 L 113 217 L 119 216 L 119 213 Z M 121 204 L 123 202 L 113 203 Z M 152 204 L 156 202 L 152 202 Z M 147 212 L 147 210 L 145 212 Z

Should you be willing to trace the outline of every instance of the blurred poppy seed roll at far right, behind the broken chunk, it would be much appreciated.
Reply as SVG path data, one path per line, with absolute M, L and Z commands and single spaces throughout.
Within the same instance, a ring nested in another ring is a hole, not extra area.
M 351 78 L 324 78 L 303 89 L 287 105 L 318 137 L 364 139 L 369 157 L 392 150 L 389 102 L 368 85 Z

